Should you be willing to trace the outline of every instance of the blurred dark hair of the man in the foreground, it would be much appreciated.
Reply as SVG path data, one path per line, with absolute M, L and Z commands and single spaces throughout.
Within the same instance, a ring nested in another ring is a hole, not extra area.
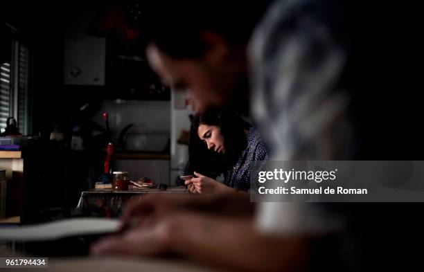
M 247 44 L 268 2 L 156 0 L 144 9 L 140 33 L 145 44 L 154 43 L 171 57 L 200 58 L 209 46 L 201 37 L 204 31 L 231 45 Z

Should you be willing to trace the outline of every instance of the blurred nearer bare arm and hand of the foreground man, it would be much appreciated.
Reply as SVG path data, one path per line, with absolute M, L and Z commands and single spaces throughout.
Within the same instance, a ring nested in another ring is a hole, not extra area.
M 265 237 L 253 217 L 174 212 L 123 235 L 101 239 L 94 255 L 143 257 L 177 253 L 203 264 L 236 271 L 301 271 L 308 246 L 297 235 Z

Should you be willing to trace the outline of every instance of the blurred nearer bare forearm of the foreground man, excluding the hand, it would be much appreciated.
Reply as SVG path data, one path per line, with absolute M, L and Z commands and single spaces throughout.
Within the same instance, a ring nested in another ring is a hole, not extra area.
M 171 249 L 197 261 L 242 271 L 299 271 L 306 257 L 301 239 L 267 238 L 251 217 L 179 217 Z

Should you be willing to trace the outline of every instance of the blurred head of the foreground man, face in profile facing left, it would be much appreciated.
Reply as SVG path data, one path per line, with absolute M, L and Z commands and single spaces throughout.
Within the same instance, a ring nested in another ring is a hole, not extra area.
M 246 46 L 266 2 L 152 4 L 141 24 L 150 65 L 175 91 L 191 91 L 197 110 L 247 111 Z

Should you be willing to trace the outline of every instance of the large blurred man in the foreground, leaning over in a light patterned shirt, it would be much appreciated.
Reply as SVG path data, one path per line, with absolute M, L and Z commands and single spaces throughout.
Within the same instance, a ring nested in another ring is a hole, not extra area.
M 346 7 L 337 1 L 276 1 L 266 11 L 253 6 L 249 13 L 246 5 L 170 8 L 165 17 L 173 24 L 157 22 L 149 29 L 152 68 L 175 90 L 189 89 L 200 110 L 216 105 L 243 113 L 250 109 L 274 160 L 363 158 L 372 142 L 364 137 L 369 123 L 360 121 L 371 109 L 361 104 L 363 112 L 351 115 L 364 93 L 353 92 L 359 60 Z M 382 141 L 373 146 L 373 152 L 378 150 L 373 154 L 386 154 Z M 92 252 L 177 253 L 241 271 L 358 266 L 354 243 L 339 257 L 340 239 L 333 243 L 334 229 L 319 213 L 323 208 L 328 210 L 318 203 L 270 202 L 251 212 L 248 199 L 234 194 L 150 196 L 127 207 L 123 228 L 130 230 L 100 241 Z M 344 208 L 348 213 L 349 206 Z

